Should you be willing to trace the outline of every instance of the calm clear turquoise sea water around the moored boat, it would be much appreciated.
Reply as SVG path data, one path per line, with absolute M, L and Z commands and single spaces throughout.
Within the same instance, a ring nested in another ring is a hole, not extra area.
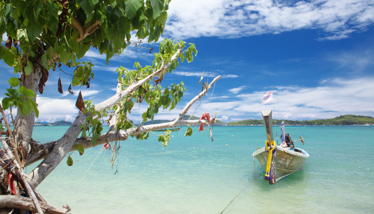
M 67 128 L 35 127 L 33 138 L 53 141 Z M 173 132 L 166 147 L 152 135 L 147 141 L 129 138 L 119 143 L 113 169 L 112 151 L 100 152 L 102 146 L 83 156 L 74 152 L 74 165 L 63 160 L 37 190 L 74 214 L 220 214 L 246 187 L 224 214 L 374 213 L 374 126 L 285 129 L 293 140 L 304 138 L 296 146 L 310 157 L 303 170 L 275 185 L 263 175 L 254 180 L 252 153 L 265 144 L 263 126 L 215 126 L 214 142 L 198 127 L 191 137 L 184 137 L 186 127 Z

